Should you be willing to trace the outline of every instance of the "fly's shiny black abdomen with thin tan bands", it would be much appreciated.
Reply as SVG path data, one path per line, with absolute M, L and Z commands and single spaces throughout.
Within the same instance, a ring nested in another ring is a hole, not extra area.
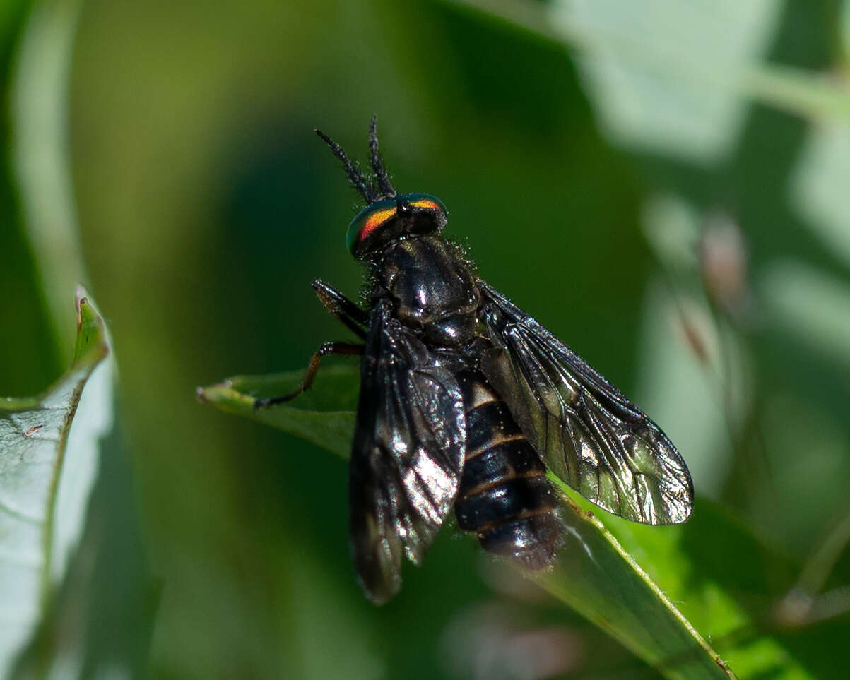
M 543 569 L 562 534 L 546 467 L 484 375 L 462 371 L 457 381 L 467 411 L 457 524 L 473 531 L 484 550 Z

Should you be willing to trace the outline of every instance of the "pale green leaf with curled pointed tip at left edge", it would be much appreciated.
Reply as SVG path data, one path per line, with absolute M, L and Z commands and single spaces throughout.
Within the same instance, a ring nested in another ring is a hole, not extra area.
M 111 426 L 109 351 L 103 320 L 81 288 L 71 368 L 36 397 L 0 399 L 3 677 L 47 610 L 82 534 L 97 438 Z

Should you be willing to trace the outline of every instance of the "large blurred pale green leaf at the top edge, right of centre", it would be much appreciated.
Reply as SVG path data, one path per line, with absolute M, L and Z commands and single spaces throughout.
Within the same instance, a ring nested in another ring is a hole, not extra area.
M 728 156 L 746 103 L 715 81 L 762 54 L 780 3 L 561 0 L 553 9 L 556 31 L 592 42 L 581 70 L 611 139 L 706 164 Z

